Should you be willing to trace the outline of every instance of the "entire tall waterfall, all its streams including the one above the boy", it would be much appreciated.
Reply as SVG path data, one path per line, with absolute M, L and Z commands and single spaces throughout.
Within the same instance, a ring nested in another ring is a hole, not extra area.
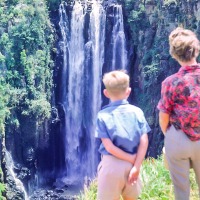
M 61 180 L 66 184 L 84 183 L 96 175 L 98 164 L 94 131 L 96 115 L 101 108 L 101 80 L 105 64 L 106 10 L 101 3 L 75 1 L 73 9 L 60 5 L 60 49 L 62 69 L 58 104 L 64 119 L 61 131 L 65 138 L 65 167 Z M 123 28 L 122 8 L 113 6 L 114 26 L 112 69 L 126 69 L 127 51 Z M 67 11 L 67 12 L 66 12 Z M 120 55 L 120 56 L 119 56 Z M 106 69 L 104 69 L 106 71 Z

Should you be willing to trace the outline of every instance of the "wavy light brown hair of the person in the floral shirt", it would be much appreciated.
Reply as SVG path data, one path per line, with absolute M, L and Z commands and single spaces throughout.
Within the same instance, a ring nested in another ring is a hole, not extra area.
M 170 54 L 177 61 L 188 62 L 197 58 L 200 42 L 194 32 L 181 27 L 173 30 L 169 35 Z

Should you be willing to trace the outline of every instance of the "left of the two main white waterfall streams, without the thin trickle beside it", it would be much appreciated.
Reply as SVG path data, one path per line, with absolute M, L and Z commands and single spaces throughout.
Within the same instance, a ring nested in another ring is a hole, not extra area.
M 75 2 L 71 17 L 69 39 L 69 82 L 66 113 L 66 149 L 67 176 L 71 180 L 79 171 L 79 135 L 83 117 L 83 72 L 84 72 L 84 11 L 79 2 Z

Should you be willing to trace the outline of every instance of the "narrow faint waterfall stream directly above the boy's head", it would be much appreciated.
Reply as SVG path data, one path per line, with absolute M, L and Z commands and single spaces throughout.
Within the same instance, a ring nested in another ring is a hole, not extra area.
M 124 21 L 121 5 L 113 5 L 113 30 L 112 30 L 112 67 L 111 69 L 126 69 L 127 50 L 124 34 Z

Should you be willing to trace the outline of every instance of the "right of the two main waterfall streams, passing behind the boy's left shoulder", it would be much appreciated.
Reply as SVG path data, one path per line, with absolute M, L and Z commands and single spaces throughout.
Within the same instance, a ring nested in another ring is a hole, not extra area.
M 106 23 L 106 13 L 103 6 L 97 2 L 92 5 L 92 11 L 90 13 L 90 26 L 89 26 L 89 42 L 92 48 L 92 61 L 91 66 L 85 65 L 87 68 L 91 68 L 90 83 L 88 83 L 88 90 L 90 90 L 91 95 L 87 98 L 90 102 L 90 108 L 88 108 L 90 117 L 88 121 L 90 122 L 86 125 L 86 130 L 88 133 L 88 138 L 90 138 L 91 150 L 88 156 L 93 163 L 90 164 L 90 173 L 93 175 L 96 171 L 96 165 L 98 162 L 98 157 L 95 152 L 95 125 L 96 125 L 96 115 L 101 108 L 101 79 L 102 79 L 102 68 L 104 64 L 104 41 L 105 41 L 105 23 Z M 86 44 L 87 46 L 87 44 Z M 85 112 L 88 112 L 85 110 Z M 89 174 L 89 171 L 88 171 Z

